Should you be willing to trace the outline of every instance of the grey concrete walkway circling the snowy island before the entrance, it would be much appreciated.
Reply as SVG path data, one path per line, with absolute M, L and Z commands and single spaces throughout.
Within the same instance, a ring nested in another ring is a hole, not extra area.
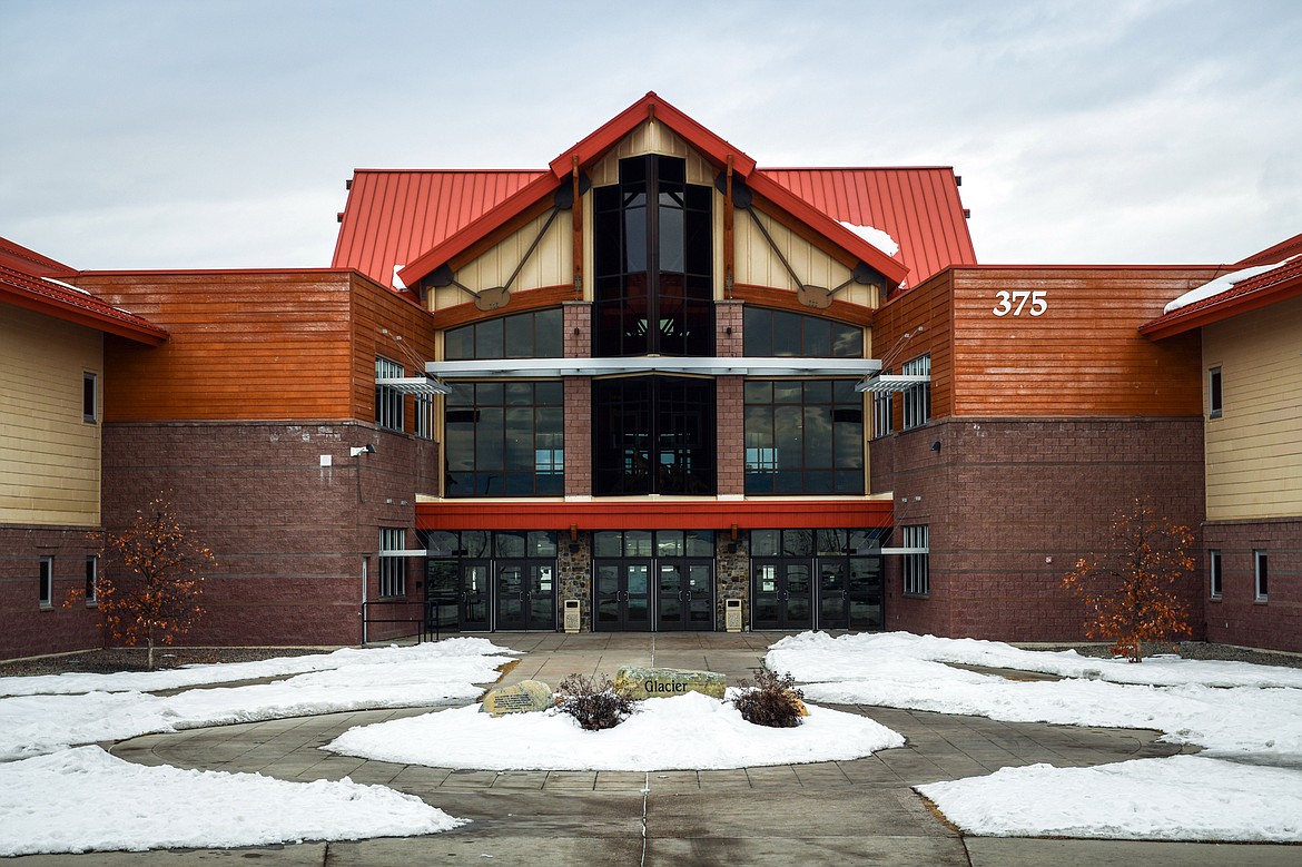
M 711 669 L 753 677 L 763 634 L 495 634 L 525 656 L 501 678 L 556 686 L 572 673 L 620 665 Z M 997 722 L 879 707 L 844 707 L 907 738 L 853 762 L 737 771 L 452 771 L 336 756 L 318 750 L 341 732 L 428 708 L 335 713 L 158 734 L 113 752 L 142 764 L 259 772 L 285 780 L 380 784 L 473 823 L 443 834 L 241 850 L 94 853 L 16 858 L 22 864 L 1200 864 L 1295 866 L 1302 846 L 965 837 L 910 786 L 1047 762 L 1083 767 L 1161 756 L 1180 747 L 1156 733 Z M 1055 797 L 1055 793 L 1044 793 Z M 1178 793 L 1172 793 L 1178 797 Z M 52 821 L 57 808 L 52 805 Z

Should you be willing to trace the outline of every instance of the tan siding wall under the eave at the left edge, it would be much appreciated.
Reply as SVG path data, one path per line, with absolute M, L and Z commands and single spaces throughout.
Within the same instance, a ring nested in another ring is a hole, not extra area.
M 0 523 L 99 523 L 100 426 L 82 383 L 95 374 L 103 394 L 103 357 L 98 331 L 0 307 Z

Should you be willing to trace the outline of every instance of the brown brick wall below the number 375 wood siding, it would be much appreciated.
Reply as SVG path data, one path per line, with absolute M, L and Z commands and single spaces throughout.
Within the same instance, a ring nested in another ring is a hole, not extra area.
M 930 598 L 904 598 L 901 558 L 887 557 L 888 627 L 1083 639 L 1085 612 L 1059 587 L 1062 574 L 1105 549 L 1137 497 L 1200 526 L 1202 430 L 1200 419 L 954 419 L 874 440 L 872 489 L 893 492 L 894 526 L 930 527 Z M 1186 601 L 1199 614 L 1200 598 L 1191 581 Z

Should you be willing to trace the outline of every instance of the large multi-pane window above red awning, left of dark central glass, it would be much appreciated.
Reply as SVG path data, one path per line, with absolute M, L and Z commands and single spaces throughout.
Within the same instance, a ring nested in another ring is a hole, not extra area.
M 444 496 L 565 493 L 561 383 L 458 383 L 445 407 Z

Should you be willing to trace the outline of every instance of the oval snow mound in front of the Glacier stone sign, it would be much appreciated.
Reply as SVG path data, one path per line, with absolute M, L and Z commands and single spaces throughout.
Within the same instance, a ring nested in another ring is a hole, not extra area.
M 439 768 L 486 771 L 723 769 L 858 759 L 904 746 L 855 713 L 809 706 L 793 729 L 746 722 L 699 693 L 647 699 L 612 729 L 585 732 L 559 711 L 492 717 L 479 706 L 358 726 L 324 749 Z

